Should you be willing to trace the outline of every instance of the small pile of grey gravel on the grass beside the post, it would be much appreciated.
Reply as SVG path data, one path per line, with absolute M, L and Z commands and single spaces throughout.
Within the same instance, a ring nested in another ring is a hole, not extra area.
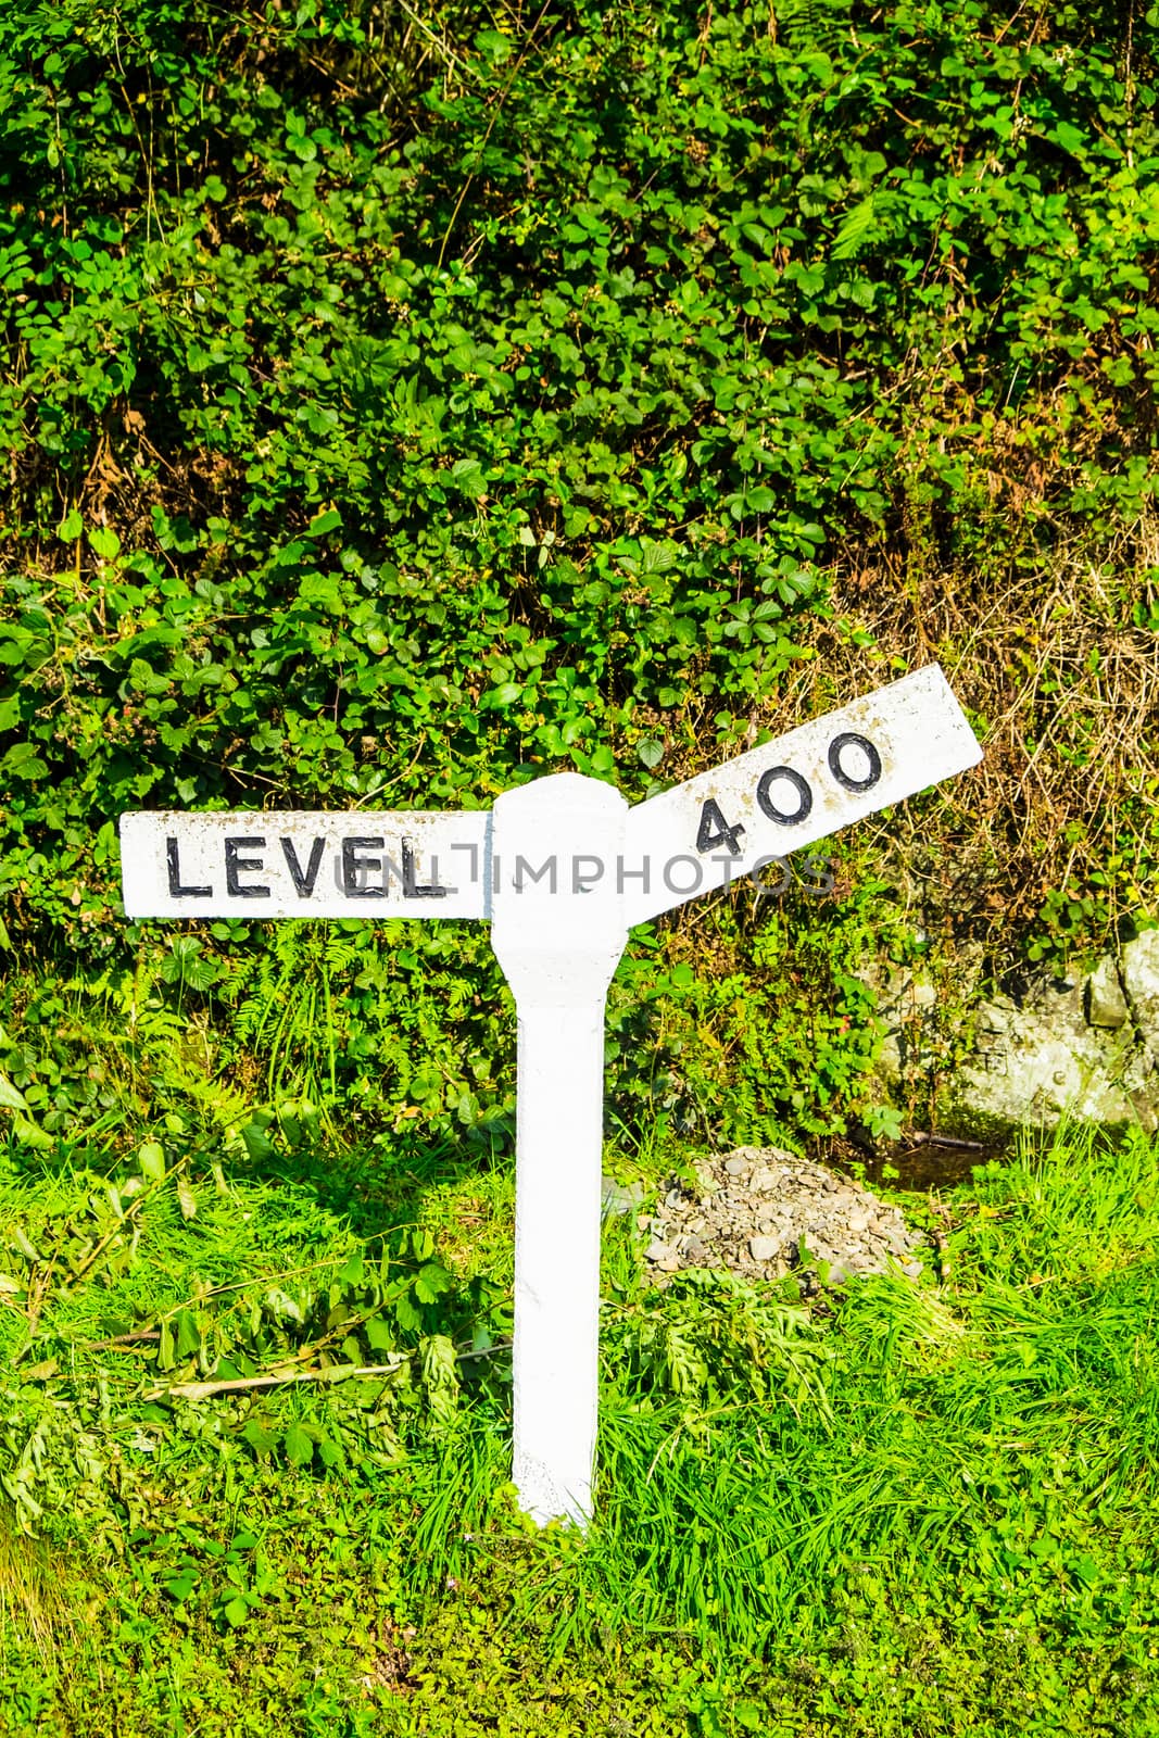
M 636 1224 L 650 1232 L 645 1260 L 662 1284 L 681 1267 L 728 1267 L 747 1279 L 778 1279 L 815 1258 L 829 1284 L 850 1274 L 883 1274 L 893 1260 L 916 1279 L 921 1244 L 895 1206 L 850 1177 L 780 1147 L 737 1147 L 695 1164 L 695 1187 L 672 1180 L 655 1213 Z M 624 1211 L 627 1191 L 605 1192 Z M 805 1253 L 803 1253 L 805 1251 Z

